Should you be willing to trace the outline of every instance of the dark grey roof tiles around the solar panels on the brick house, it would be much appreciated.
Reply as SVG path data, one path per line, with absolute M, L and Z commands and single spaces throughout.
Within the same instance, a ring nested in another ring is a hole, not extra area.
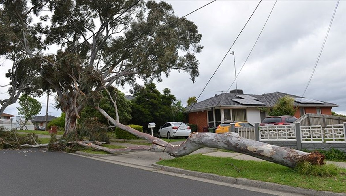
M 267 93 L 267 94 L 262 94 L 262 95 L 252 95 L 252 94 L 243 94 L 243 95 L 249 95 L 252 97 L 255 97 L 257 99 L 259 99 L 258 101 L 262 102 L 263 106 L 261 105 L 242 105 L 239 104 L 238 102 L 233 101 L 232 99 L 239 99 L 239 97 L 237 97 L 236 95 L 240 95 L 240 94 L 234 94 L 234 93 L 222 93 L 220 95 L 216 95 L 214 97 L 211 97 L 209 99 L 197 102 L 194 105 L 188 106 L 185 108 L 186 111 L 190 111 L 191 107 L 191 111 L 198 111 L 198 110 L 204 110 L 204 109 L 209 109 L 212 107 L 217 107 L 217 106 L 226 106 L 226 107 L 273 107 L 277 100 L 279 100 L 279 98 L 284 97 L 286 95 L 290 96 L 290 97 L 299 97 L 296 95 L 290 95 L 290 94 L 286 94 L 283 92 L 272 92 L 272 93 Z M 300 97 L 299 97 L 300 98 Z M 295 106 L 322 106 L 322 107 L 337 107 L 338 105 L 336 104 L 331 104 L 328 102 L 324 102 L 322 101 L 322 104 L 300 104 L 297 102 L 294 102 Z

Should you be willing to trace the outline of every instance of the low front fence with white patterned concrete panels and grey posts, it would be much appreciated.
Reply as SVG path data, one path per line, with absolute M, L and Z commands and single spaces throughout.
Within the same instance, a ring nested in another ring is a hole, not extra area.
M 253 128 L 234 127 L 230 131 L 248 139 L 262 141 L 268 144 L 295 148 L 298 150 L 336 148 L 346 153 L 346 122 L 338 125 L 300 126 L 299 122 L 292 125 L 266 125 L 255 124 Z

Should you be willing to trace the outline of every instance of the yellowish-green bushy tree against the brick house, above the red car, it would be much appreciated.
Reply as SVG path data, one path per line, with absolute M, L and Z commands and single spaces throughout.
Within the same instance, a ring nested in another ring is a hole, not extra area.
M 293 107 L 294 99 L 290 96 L 281 97 L 274 107 L 268 112 L 269 116 L 294 115 L 296 109 Z

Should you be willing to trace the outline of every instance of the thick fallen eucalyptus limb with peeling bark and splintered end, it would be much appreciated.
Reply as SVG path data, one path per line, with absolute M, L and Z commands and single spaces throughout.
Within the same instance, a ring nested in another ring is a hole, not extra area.
M 106 147 L 100 147 L 94 144 L 84 144 L 83 146 L 89 146 L 97 148 L 99 150 L 105 150 L 109 153 L 121 153 L 128 151 L 154 151 L 154 152 L 166 152 L 173 157 L 182 157 L 189 155 L 193 151 L 196 151 L 203 147 L 211 147 L 218 149 L 231 150 L 238 153 L 250 155 L 263 160 L 271 161 L 286 167 L 294 168 L 300 161 L 310 161 L 313 164 L 322 165 L 324 155 L 311 154 L 293 148 L 285 148 L 275 145 L 266 144 L 260 141 L 246 139 L 240 137 L 236 133 L 228 132 L 225 134 L 214 133 L 192 133 L 188 139 L 179 145 L 172 145 L 166 141 L 153 137 L 149 134 L 139 132 L 131 127 L 120 124 L 117 120 L 110 117 L 106 111 L 99 107 L 95 107 L 101 114 L 106 117 L 113 125 L 119 127 L 122 130 L 152 142 L 150 147 L 133 147 L 125 149 L 109 149 Z M 79 144 L 79 143 L 78 143 Z M 80 144 L 82 145 L 82 144 Z M 318 160 L 318 161 L 316 161 Z

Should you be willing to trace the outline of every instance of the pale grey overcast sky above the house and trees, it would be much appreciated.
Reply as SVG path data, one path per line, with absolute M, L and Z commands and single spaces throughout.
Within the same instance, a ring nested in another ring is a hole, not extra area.
M 171 0 L 178 16 L 203 6 L 210 1 Z M 204 49 L 197 54 L 200 76 L 195 83 L 186 73 L 172 71 L 163 82 L 156 83 L 158 90 L 172 90 L 177 99 L 186 105 L 189 97 L 201 93 L 227 50 L 237 37 L 259 1 L 215 1 L 189 15 L 202 34 Z M 337 1 L 278 1 L 251 56 L 237 78 L 238 89 L 244 94 L 264 94 L 280 91 L 302 96 L 325 38 Z M 235 52 L 237 72 L 242 67 L 275 1 L 262 1 L 231 50 Z M 339 105 L 332 110 L 346 114 L 346 1 L 340 1 L 319 59 L 315 74 L 304 97 Z M 1 67 L 0 85 L 7 85 Z M 226 91 L 235 78 L 233 56 L 227 55 L 198 101 Z M 121 89 L 121 88 L 120 88 Z M 235 89 L 235 84 L 231 87 Z M 125 94 L 128 88 L 122 89 Z M 0 98 L 6 98 L 7 88 L 0 87 Z M 50 97 L 49 114 L 59 116 Z M 38 98 L 45 115 L 47 97 Z M 4 112 L 17 115 L 18 104 Z

